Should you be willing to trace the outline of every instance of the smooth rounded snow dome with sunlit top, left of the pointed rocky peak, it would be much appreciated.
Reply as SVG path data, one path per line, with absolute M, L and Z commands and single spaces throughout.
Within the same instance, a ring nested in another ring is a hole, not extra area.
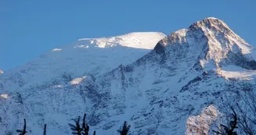
M 28 88 L 42 83 L 56 86 L 86 74 L 97 76 L 120 64 L 126 65 L 147 54 L 163 37 L 162 33 L 140 32 L 117 37 L 80 39 L 54 48 L 38 59 L 0 76 L 5 90 Z M 5 82 L 5 83 L 4 83 Z

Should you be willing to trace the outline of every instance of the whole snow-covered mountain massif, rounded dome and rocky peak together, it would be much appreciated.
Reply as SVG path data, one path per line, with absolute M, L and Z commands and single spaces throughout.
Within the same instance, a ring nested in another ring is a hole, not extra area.
M 209 133 L 229 80 L 255 74 L 254 48 L 215 18 L 166 37 L 80 39 L 0 75 L 0 133 L 26 118 L 30 134 L 44 123 L 48 134 L 70 134 L 84 112 L 97 134 L 117 134 L 125 120 L 130 134 Z

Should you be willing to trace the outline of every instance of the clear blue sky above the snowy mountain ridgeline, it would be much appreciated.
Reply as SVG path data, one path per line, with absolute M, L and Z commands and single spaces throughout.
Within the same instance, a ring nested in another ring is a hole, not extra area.
M 0 69 L 82 37 L 170 34 L 213 16 L 255 46 L 255 0 L 0 0 Z

